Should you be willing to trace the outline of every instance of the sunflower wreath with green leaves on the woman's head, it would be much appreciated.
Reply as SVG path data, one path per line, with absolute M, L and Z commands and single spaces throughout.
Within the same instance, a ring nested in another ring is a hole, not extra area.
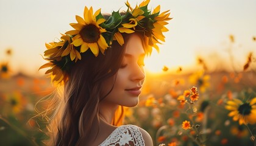
M 40 69 L 50 68 L 45 74 L 51 74 L 52 83 L 56 85 L 65 83 L 68 80 L 68 69 L 72 63 L 81 60 L 82 53 L 90 49 L 97 57 L 99 52 L 104 54 L 112 41 L 118 41 L 122 46 L 124 44 L 122 33 L 135 31 L 142 31 L 147 36 L 145 38 L 149 54 L 152 52 L 152 47 L 159 51 L 157 43 L 165 41 L 163 32 L 168 31 L 165 25 L 171 18 L 169 18 L 169 10 L 160 13 L 160 5 L 153 12 L 148 10 L 149 1 L 141 2 L 134 9 L 127 1 L 128 9 L 124 15 L 120 15 L 118 10 L 112 12 L 107 19 L 101 14 L 101 9 L 93 13 L 92 7 L 90 9 L 85 7 L 84 18 L 76 15 L 77 23 L 70 24 L 74 30 L 61 34 L 59 42 L 46 43 L 44 59 L 49 63 L 44 64 Z

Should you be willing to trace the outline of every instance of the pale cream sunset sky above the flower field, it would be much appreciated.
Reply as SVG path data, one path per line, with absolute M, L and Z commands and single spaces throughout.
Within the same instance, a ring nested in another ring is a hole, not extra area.
M 126 10 L 125 0 L 0 0 L 0 63 L 9 61 L 12 72 L 42 75 L 38 68 L 46 63 L 41 55 L 44 44 L 60 38 L 60 33 L 73 30 L 75 16 L 83 16 L 84 7 L 94 12 Z M 130 0 L 134 7 L 141 0 Z M 165 43 L 146 60 L 146 69 L 160 72 L 163 66 L 193 68 L 196 58 L 204 58 L 212 68 L 220 63 L 243 65 L 249 52 L 256 53 L 255 0 L 151 0 L 149 8 L 161 5 L 170 10 Z M 231 44 L 229 35 L 235 43 Z M 5 50 L 13 50 L 12 57 Z M 231 49 L 230 49 L 231 48 Z M 232 50 L 229 53 L 229 49 Z M 211 65 L 212 64 L 212 65 Z M 227 65 L 229 66 L 229 65 Z

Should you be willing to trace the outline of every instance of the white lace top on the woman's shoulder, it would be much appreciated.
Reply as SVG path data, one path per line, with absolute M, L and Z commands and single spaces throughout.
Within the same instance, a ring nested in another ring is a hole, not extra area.
M 144 146 L 145 142 L 139 128 L 135 125 L 122 125 L 116 128 L 99 146 Z

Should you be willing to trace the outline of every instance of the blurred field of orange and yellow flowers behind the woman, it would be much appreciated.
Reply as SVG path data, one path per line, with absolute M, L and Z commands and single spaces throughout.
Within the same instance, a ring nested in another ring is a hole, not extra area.
M 147 72 L 125 123 L 144 128 L 155 145 L 256 145 L 255 55 L 249 53 L 242 71 L 208 71 L 204 59 L 197 62 L 190 73 L 166 66 L 161 74 Z M 55 90 L 50 78 L 12 75 L 8 62 L 0 65 L 0 145 L 43 145 L 47 118 L 37 114 Z

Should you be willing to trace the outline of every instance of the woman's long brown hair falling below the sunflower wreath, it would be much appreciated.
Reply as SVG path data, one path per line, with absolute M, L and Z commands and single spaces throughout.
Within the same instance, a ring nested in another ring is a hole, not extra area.
M 146 49 L 143 35 L 137 34 Z M 127 42 L 131 35 L 123 36 Z M 70 69 L 68 81 L 57 91 L 49 109 L 43 112 L 44 115 L 51 115 L 48 117 L 48 145 L 77 145 L 80 137 L 88 137 L 90 127 L 96 124 L 95 121 L 99 123 L 99 102 L 113 89 L 125 47 L 126 44 L 120 46 L 113 41 L 105 54 L 99 53 L 98 57 L 88 50 L 82 54 L 82 60 Z M 113 86 L 102 96 L 102 82 L 107 78 L 113 78 Z M 123 117 L 123 107 L 119 106 L 112 124 L 119 125 Z

